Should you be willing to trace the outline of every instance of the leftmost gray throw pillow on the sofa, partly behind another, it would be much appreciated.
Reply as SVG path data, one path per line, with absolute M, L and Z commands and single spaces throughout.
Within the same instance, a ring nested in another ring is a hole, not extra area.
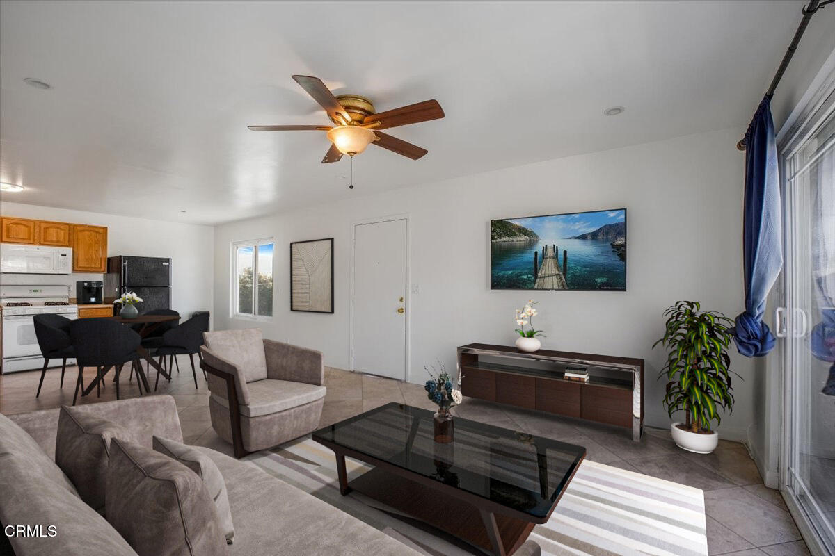
M 97 511 L 104 509 L 104 475 L 114 437 L 130 438 L 130 434 L 93 413 L 61 407 L 55 462 L 67 473 L 81 499 Z

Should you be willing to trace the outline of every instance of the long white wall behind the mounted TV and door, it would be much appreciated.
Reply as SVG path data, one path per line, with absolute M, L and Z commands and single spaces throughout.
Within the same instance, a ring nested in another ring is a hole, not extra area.
M 702 133 L 282 213 L 215 229 L 215 328 L 261 326 L 266 337 L 325 353 L 326 364 L 348 368 L 349 266 L 352 224 L 408 213 L 412 382 L 423 365 L 453 366 L 463 343 L 514 341 L 514 308 L 536 298 L 545 348 L 645 358 L 646 421 L 669 423 L 655 376 L 665 356 L 652 343 L 663 332 L 661 313 L 679 299 L 736 316 L 743 308 L 741 213 L 743 155 L 734 147 L 741 128 Z M 431 156 L 431 154 L 430 154 Z M 407 171 L 408 161 L 403 161 Z M 333 187 L 343 187 L 334 184 Z M 489 221 L 525 215 L 628 208 L 627 288 L 617 292 L 511 292 L 489 288 Z M 275 317 L 270 323 L 230 318 L 230 242 L 276 240 Z M 291 241 L 335 238 L 335 313 L 291 313 Z M 362 323 L 361 323 L 362 324 Z M 750 359 L 732 365 L 736 409 L 721 427 L 745 438 L 751 423 Z

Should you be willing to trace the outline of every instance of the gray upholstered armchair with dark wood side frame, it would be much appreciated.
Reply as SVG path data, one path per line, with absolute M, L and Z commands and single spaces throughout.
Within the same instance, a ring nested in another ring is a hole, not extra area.
M 325 403 L 320 352 L 265 340 L 258 328 L 203 337 L 212 428 L 235 458 L 316 429 Z

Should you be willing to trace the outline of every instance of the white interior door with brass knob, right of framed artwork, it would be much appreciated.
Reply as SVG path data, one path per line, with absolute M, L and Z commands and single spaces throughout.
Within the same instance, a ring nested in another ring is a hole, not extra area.
M 354 227 L 353 368 L 406 379 L 405 219 Z

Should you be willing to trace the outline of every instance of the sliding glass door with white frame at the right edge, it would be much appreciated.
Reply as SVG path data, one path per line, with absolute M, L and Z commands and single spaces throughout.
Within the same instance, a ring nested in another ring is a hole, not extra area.
M 783 158 L 785 383 L 782 488 L 835 553 L 835 93 Z M 778 323 L 778 328 L 779 327 Z M 811 543 L 815 543 L 810 539 Z

